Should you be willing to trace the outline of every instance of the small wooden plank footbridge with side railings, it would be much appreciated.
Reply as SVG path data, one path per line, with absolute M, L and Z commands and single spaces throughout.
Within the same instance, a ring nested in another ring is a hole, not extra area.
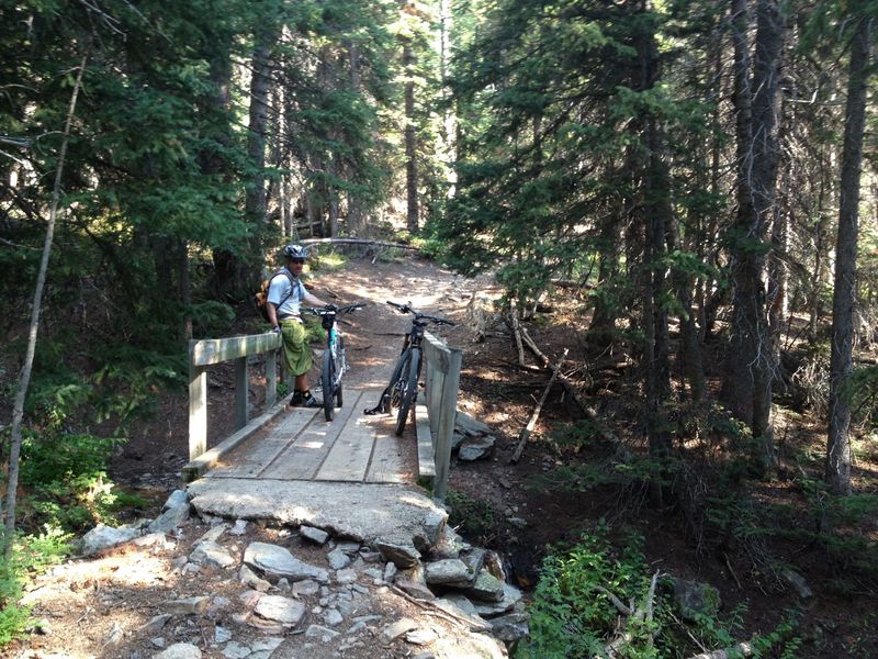
M 345 390 L 345 404 L 326 422 L 323 409 L 290 407 L 277 399 L 280 336 L 260 334 L 190 344 L 190 462 L 185 481 L 210 479 L 307 480 L 363 483 L 432 481 L 444 495 L 460 373 L 460 350 L 431 335 L 424 345 L 425 388 L 416 423 L 394 434 L 395 417 L 364 415 L 381 395 L 376 388 Z M 266 362 L 267 411 L 250 420 L 248 359 Z M 206 449 L 207 368 L 234 361 L 238 429 Z M 392 365 L 387 365 L 390 372 Z

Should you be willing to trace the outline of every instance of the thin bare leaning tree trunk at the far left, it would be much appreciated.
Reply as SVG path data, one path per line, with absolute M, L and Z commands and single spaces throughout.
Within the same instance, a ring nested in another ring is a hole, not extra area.
M 58 216 L 58 203 L 61 196 L 61 175 L 64 174 L 64 161 L 67 157 L 67 145 L 70 142 L 70 124 L 74 121 L 76 101 L 79 97 L 79 90 L 82 87 L 82 76 L 86 72 L 88 57 L 89 54 L 87 52 L 79 64 L 76 82 L 74 83 L 74 91 L 70 94 L 67 120 L 64 124 L 64 138 L 61 141 L 60 152 L 58 153 L 58 164 L 55 166 L 55 183 L 52 188 L 52 205 L 49 206 L 48 224 L 46 225 L 46 238 L 43 243 L 43 257 L 40 261 L 36 286 L 34 287 L 34 301 L 31 308 L 31 326 L 27 333 L 27 350 L 24 355 L 24 364 L 21 367 L 21 372 L 19 373 L 19 384 L 15 390 L 15 401 L 12 407 L 5 520 L 3 523 L 3 556 L 7 559 L 7 566 L 9 566 L 9 561 L 12 558 L 12 549 L 15 540 L 15 501 L 19 490 L 19 461 L 21 457 L 21 426 L 24 420 L 24 400 L 27 396 L 27 388 L 31 384 L 31 370 L 33 369 L 34 355 L 36 353 L 36 336 L 40 332 L 40 313 L 43 304 L 43 291 L 46 287 L 48 260 L 52 256 L 52 242 L 55 235 L 55 220 Z

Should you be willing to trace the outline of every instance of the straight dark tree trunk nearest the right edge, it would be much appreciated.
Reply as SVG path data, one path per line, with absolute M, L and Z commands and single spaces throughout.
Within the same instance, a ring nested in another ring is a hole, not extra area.
M 851 376 L 856 301 L 857 206 L 866 119 L 867 67 L 871 58 L 871 23 L 863 16 L 851 47 L 847 103 L 842 154 L 838 237 L 835 246 L 835 290 L 832 297 L 832 342 L 830 356 L 829 438 L 826 483 L 835 494 L 851 493 L 851 406 L 844 384 Z

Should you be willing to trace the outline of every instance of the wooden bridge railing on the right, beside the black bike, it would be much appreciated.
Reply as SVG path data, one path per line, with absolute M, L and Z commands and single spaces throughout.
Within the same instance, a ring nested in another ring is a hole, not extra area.
M 421 345 L 426 390 L 424 404 L 416 411 L 419 473 L 432 478 L 434 494 L 444 500 L 458 413 L 462 353 L 449 348 L 429 332 L 424 334 Z

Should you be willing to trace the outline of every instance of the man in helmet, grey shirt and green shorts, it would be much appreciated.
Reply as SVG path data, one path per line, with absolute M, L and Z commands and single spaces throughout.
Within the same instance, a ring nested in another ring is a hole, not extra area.
M 327 306 L 326 302 L 308 292 L 300 276 L 305 267 L 308 248 L 291 243 L 283 248 L 286 265 L 269 282 L 269 322 L 273 332 L 283 336 L 283 359 L 286 371 L 295 378 L 290 405 L 318 407 L 323 401 L 314 398 L 308 389 L 308 371 L 312 365 L 311 346 L 305 339 L 302 324 L 302 304 Z

